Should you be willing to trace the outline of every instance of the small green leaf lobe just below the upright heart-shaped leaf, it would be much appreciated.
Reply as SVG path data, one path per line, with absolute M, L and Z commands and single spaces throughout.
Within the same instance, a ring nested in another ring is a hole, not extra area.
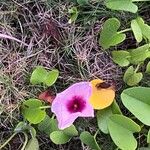
M 128 66 L 130 64 L 130 53 L 127 51 L 113 51 L 113 61 L 121 67 Z

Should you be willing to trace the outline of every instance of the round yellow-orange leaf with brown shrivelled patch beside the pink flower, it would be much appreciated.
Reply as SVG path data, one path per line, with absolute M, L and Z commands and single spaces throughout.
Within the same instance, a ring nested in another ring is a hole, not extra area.
M 105 83 L 101 79 L 94 79 L 91 81 L 92 95 L 90 97 L 90 103 L 94 109 L 103 109 L 112 104 L 115 98 L 115 90 L 112 86 L 107 87 L 103 84 L 102 87 L 98 87 L 101 83 Z

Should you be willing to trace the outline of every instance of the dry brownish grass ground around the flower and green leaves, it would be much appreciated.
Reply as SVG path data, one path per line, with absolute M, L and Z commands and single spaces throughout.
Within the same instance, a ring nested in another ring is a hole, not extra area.
M 29 82 L 37 65 L 60 71 L 58 81 L 51 87 L 55 93 L 77 81 L 89 81 L 96 77 L 115 84 L 117 93 L 125 88 L 122 82 L 124 70 L 113 63 L 109 51 L 99 46 L 98 38 L 107 18 L 117 17 L 122 20 L 122 27 L 128 27 L 128 20 L 134 18 L 134 14 L 111 12 L 102 0 L 99 3 L 93 1 L 92 4 L 89 8 L 79 8 L 76 23 L 69 24 L 68 9 L 75 6 L 71 0 L 0 0 L 0 33 L 22 41 L 0 37 L 0 105 L 4 107 L 0 117 L 0 143 L 12 134 L 16 124 L 22 120 L 22 101 L 37 97 L 45 90 L 45 87 L 33 86 Z M 139 14 L 147 22 L 150 21 L 149 8 L 150 4 L 139 4 Z M 132 48 L 134 43 L 133 36 L 128 35 L 119 48 Z M 149 86 L 147 79 L 145 77 L 141 84 Z M 94 132 L 95 122 L 95 119 L 79 119 L 77 124 L 80 130 Z M 142 136 L 137 135 L 139 144 L 144 145 Z M 38 139 L 42 150 L 88 150 L 78 138 L 60 146 L 52 144 L 41 133 Z M 4 149 L 19 150 L 23 141 L 20 134 Z M 104 150 L 114 150 L 109 136 L 101 134 L 98 141 Z

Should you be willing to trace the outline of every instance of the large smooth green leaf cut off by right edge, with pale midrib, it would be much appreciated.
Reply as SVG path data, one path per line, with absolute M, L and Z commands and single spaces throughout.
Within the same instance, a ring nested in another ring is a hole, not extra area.
M 121 94 L 124 106 L 142 123 L 150 126 L 150 88 L 134 87 Z

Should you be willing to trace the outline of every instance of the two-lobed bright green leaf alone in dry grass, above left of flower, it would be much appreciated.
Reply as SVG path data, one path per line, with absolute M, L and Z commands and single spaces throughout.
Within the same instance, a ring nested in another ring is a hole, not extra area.
M 58 70 L 53 69 L 52 71 L 47 71 L 43 67 L 38 66 L 33 71 L 30 82 L 34 85 L 43 83 L 47 86 L 52 86 L 56 82 L 58 76 Z

